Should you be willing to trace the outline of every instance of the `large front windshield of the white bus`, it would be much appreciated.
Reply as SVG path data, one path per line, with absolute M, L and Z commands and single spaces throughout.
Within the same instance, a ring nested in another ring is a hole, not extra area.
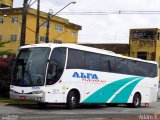
M 43 86 L 50 48 L 21 49 L 14 63 L 12 85 Z

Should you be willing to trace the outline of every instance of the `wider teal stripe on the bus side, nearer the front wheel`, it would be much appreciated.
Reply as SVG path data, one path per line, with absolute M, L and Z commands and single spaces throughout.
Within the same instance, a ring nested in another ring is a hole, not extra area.
M 124 78 L 107 84 L 86 98 L 82 103 L 106 103 L 122 86 L 138 78 L 141 77 Z

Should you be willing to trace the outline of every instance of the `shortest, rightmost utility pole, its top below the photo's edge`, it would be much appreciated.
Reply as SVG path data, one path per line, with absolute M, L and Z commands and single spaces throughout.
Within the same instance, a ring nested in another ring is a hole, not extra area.
M 51 19 L 52 13 L 53 13 L 53 10 L 50 9 L 48 12 L 48 18 L 47 18 L 47 30 L 46 30 L 46 39 L 45 39 L 46 43 L 49 43 L 49 28 L 50 28 L 50 19 Z

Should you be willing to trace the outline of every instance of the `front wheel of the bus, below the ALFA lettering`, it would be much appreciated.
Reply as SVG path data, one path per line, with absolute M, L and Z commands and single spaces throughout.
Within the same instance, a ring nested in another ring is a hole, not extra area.
M 77 97 L 76 93 L 74 91 L 69 92 L 68 97 L 67 97 L 67 108 L 68 109 L 74 109 L 77 104 Z

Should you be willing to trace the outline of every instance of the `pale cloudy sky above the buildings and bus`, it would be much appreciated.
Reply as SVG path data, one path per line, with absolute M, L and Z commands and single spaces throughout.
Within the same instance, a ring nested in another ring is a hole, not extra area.
M 34 0 L 32 0 L 34 1 Z M 74 0 L 40 0 L 41 11 L 57 12 Z M 79 43 L 128 43 L 129 30 L 160 28 L 160 0 L 75 0 L 57 16 L 81 25 Z M 14 0 L 14 7 L 22 7 L 23 0 Z M 36 3 L 31 6 L 36 8 Z M 113 12 L 121 14 L 111 14 Z M 123 11 L 159 11 L 158 14 L 122 14 Z M 66 15 L 64 12 L 84 12 Z M 95 12 L 96 14 L 86 14 Z M 105 14 L 99 14 L 105 12 Z

